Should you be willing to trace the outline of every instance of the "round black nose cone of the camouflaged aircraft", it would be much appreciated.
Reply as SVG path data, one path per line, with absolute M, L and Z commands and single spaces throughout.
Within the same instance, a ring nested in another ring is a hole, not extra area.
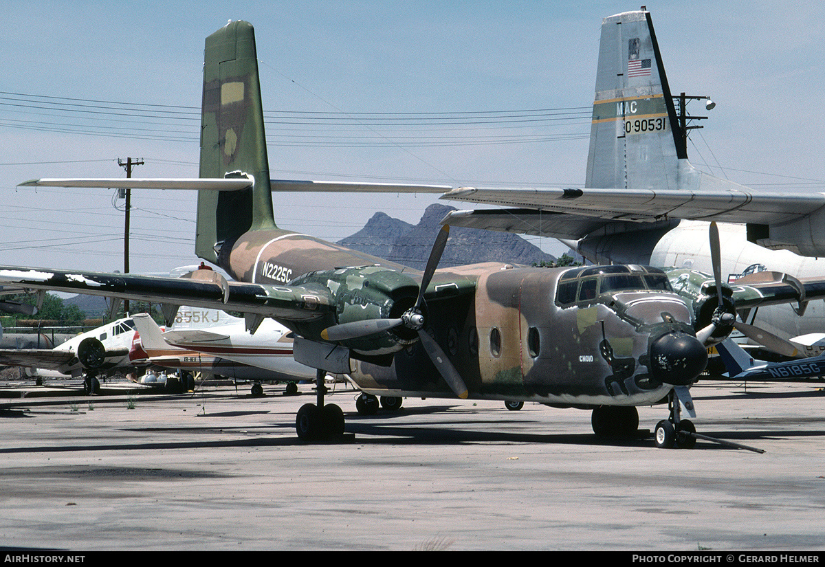
M 662 335 L 650 345 L 650 373 L 663 384 L 692 384 L 707 363 L 705 345 L 681 331 Z

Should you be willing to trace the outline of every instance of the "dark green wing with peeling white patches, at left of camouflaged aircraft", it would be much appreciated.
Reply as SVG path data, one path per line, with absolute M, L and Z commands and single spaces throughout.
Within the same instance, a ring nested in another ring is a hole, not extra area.
M 0 266 L 0 284 L 224 309 L 285 321 L 312 321 L 334 308 L 323 288 L 227 282 L 211 270 L 199 271 L 208 271 L 212 280 Z

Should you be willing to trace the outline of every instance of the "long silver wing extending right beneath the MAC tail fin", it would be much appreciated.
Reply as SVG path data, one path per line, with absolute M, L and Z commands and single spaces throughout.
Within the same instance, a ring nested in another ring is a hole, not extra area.
M 516 209 L 456 211 L 442 223 L 561 237 L 584 237 L 615 221 L 656 223 L 668 219 L 725 223 L 788 223 L 825 206 L 825 194 L 753 190 L 477 189 L 460 187 L 441 199 Z M 541 218 L 546 215 L 549 218 Z M 569 216 L 569 218 L 564 218 Z M 449 220 L 448 220 L 449 219 Z M 561 228 L 554 231 L 554 225 Z M 637 225 L 638 226 L 638 225 Z M 549 230 L 544 232 L 543 229 Z

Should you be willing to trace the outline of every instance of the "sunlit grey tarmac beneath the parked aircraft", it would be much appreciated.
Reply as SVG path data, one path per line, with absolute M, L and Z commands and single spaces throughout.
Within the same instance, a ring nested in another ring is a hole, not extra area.
M 79 387 L 79 383 L 75 385 Z M 693 449 L 596 439 L 590 412 L 408 398 L 305 444 L 284 396 L 0 391 L 0 546 L 98 550 L 825 549 L 821 383 L 700 382 Z M 124 386 L 124 388 L 127 388 Z M 343 390 L 343 391 L 342 391 Z M 62 396 L 34 397 L 52 393 Z M 68 394 L 68 396 L 67 396 Z M 25 395 L 26 397 L 19 397 Z M 652 430 L 667 407 L 639 408 Z

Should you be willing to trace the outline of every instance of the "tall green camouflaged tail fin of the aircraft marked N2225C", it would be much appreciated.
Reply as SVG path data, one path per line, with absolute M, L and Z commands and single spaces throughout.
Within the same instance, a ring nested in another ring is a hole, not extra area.
M 251 189 L 198 193 L 196 254 L 218 263 L 220 247 L 250 229 L 275 228 L 266 158 L 255 30 L 232 21 L 206 38 L 200 177 L 253 176 Z

